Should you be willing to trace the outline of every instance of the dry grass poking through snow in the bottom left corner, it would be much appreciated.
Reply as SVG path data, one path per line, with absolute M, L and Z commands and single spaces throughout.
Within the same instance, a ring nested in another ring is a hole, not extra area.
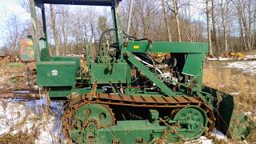
M 19 103 L 18 105 L 20 104 L 22 103 Z M 4 106 L 3 106 L 3 109 L 4 109 Z M 41 130 L 45 129 L 45 126 L 49 122 L 48 120 L 51 117 L 51 111 L 49 106 L 50 106 L 50 99 L 48 97 L 46 102 L 46 107 L 44 109 L 44 113 L 42 114 L 38 114 L 38 115 L 35 114 L 31 116 L 31 111 L 26 109 L 26 114 L 21 116 L 20 115 L 21 111 L 18 110 L 17 111 L 18 118 L 22 117 L 22 119 L 16 123 L 12 123 L 14 122 L 14 119 L 10 119 L 9 122 L 6 123 L 11 126 L 10 131 L 6 134 L 0 135 L 0 143 L 4 143 L 4 144 L 34 143 L 38 139 L 38 136 L 40 135 Z M 13 111 L 12 114 L 14 114 L 15 113 L 14 109 L 16 107 L 11 106 L 10 108 Z M 31 122 L 33 124 L 30 130 L 25 129 L 27 122 Z M 18 130 L 18 132 L 14 133 L 16 130 Z

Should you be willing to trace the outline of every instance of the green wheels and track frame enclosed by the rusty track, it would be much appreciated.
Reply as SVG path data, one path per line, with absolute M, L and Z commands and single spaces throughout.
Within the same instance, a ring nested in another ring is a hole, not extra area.
M 176 142 L 177 140 L 186 140 L 198 138 L 206 130 L 206 113 L 197 106 L 188 106 L 179 110 L 174 120 L 170 122 L 177 123 L 180 126 L 169 127 L 161 126 L 158 119 L 158 111 L 151 110 L 153 122 L 148 120 L 130 120 L 113 122 L 110 109 L 99 104 L 86 104 L 78 108 L 72 115 L 76 121 L 71 135 L 74 142 L 78 143 L 150 143 L 159 138 L 166 142 Z M 167 133 L 165 130 L 174 130 L 177 132 Z

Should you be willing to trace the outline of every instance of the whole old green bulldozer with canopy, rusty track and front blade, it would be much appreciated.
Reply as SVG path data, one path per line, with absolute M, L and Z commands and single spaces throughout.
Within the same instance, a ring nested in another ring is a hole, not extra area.
M 30 0 L 38 86 L 50 99 L 66 101 L 62 118 L 66 139 L 178 142 L 199 138 L 214 127 L 231 136 L 233 97 L 202 86 L 207 43 L 134 38 L 123 32 L 121 1 Z M 113 28 L 102 33 L 97 46 L 85 45 L 82 58 L 50 56 L 45 3 L 108 6 Z M 35 6 L 42 10 L 43 38 L 38 38 Z M 111 43 L 105 38 L 109 33 L 114 35 Z M 30 58 L 26 50 L 23 57 Z

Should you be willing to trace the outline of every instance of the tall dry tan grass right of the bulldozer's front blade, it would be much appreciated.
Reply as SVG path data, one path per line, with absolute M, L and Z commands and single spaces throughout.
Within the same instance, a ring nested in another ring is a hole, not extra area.
M 221 62 L 206 63 L 203 83 L 206 86 L 234 95 L 236 110 L 250 112 L 250 136 L 248 142 L 256 141 L 256 76 L 226 68 Z M 215 141 L 216 142 L 216 141 Z M 237 142 L 237 141 L 235 141 Z

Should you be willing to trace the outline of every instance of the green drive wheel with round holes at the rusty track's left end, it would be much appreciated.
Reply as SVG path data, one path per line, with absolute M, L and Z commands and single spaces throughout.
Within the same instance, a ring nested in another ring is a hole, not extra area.
M 96 142 L 97 130 L 114 125 L 112 110 L 102 104 L 85 104 L 71 112 L 70 138 L 73 142 Z

